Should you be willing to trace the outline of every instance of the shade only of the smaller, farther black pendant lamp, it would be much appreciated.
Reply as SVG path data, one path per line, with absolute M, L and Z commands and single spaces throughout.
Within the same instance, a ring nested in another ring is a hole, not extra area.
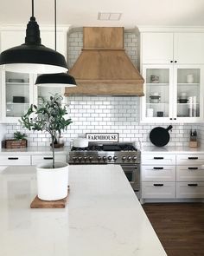
M 72 75 L 67 73 L 39 75 L 35 82 L 39 86 L 47 87 L 75 87 L 76 82 Z

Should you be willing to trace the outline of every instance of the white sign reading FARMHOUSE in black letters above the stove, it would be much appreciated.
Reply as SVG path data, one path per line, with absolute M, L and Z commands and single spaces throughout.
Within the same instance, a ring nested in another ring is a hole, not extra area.
M 86 134 L 86 139 L 88 139 L 89 141 L 98 141 L 98 142 L 118 142 L 119 134 L 118 133 L 112 133 L 112 134 L 91 133 L 91 134 Z

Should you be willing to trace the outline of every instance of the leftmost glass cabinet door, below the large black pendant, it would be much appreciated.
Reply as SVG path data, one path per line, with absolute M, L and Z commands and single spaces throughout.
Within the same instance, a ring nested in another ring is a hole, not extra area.
M 5 72 L 5 86 L 3 87 L 3 101 L 5 105 L 4 117 L 21 117 L 30 104 L 29 74 Z M 4 108 L 4 107 L 3 107 Z

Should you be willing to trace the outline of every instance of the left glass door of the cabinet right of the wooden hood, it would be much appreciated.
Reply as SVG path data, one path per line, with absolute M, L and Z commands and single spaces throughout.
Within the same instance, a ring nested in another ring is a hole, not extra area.
M 170 79 L 169 68 L 147 68 L 145 71 L 145 119 L 160 120 L 170 115 Z

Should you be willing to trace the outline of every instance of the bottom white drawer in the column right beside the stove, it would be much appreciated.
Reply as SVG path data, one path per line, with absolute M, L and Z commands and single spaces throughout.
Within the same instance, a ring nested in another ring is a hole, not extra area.
M 175 182 L 142 182 L 142 198 L 175 198 Z

